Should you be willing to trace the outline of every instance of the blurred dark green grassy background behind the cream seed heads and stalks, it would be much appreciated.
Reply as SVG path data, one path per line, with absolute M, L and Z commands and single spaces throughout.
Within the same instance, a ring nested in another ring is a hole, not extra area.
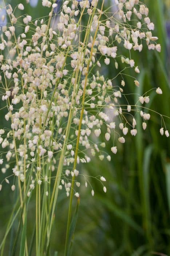
M 12 7 L 20 2 L 25 5 L 25 11 L 32 19 L 47 15 L 48 10 L 42 8 L 41 0 L 30 0 L 29 4 L 25 4 L 24 0 L 8 0 Z M 124 92 L 142 95 L 151 88 L 161 87 L 162 95 L 150 94 L 148 108 L 170 116 L 170 0 L 142 2 L 149 7 L 149 17 L 155 24 L 153 35 L 158 36 L 162 51 L 157 53 L 146 47 L 140 54 L 133 52 L 132 59 L 141 69 L 138 76 L 140 87 L 134 89 L 132 79 L 124 76 Z M 111 0 L 105 3 L 107 7 L 111 5 Z M 126 55 L 126 52 L 122 54 Z M 121 63 L 119 69 L 122 70 Z M 127 74 L 134 76 L 132 71 L 127 70 L 130 72 Z M 111 65 L 103 67 L 102 72 L 110 79 L 115 76 Z M 118 78 L 116 83 L 120 84 L 120 81 L 121 78 Z M 131 104 L 137 101 L 135 94 L 130 97 Z M 0 104 L 2 107 L 1 101 Z M 0 117 L 0 128 L 7 126 L 4 113 Z M 170 130 L 169 119 L 165 118 L 165 122 L 166 128 Z M 93 158 L 90 164 L 79 166 L 89 176 L 104 176 L 107 193 L 103 193 L 95 179 L 91 180 L 94 197 L 91 196 L 90 188 L 80 191 L 74 256 L 170 255 L 170 139 L 160 135 L 161 123 L 157 114 L 151 115 L 145 132 L 141 128 L 141 118 L 138 118 L 137 123 L 138 135 L 135 138 L 127 135 L 126 143 L 123 147 L 119 145 L 118 153 L 111 155 L 110 162 Z M 113 139 L 106 143 L 108 154 Z M 3 180 L 4 175 L 0 173 L 0 180 Z M 15 196 L 7 191 L 9 187 L 0 194 L 0 239 L 4 236 Z M 34 211 L 32 204 L 27 230 L 30 237 L 35 221 Z M 52 247 L 59 252 L 59 256 L 63 255 L 64 250 L 67 213 L 68 199 L 65 193 L 61 193 L 52 240 Z M 15 226 L 17 229 L 17 221 Z M 13 234 L 15 227 L 6 245 L 7 252 L 10 251 Z

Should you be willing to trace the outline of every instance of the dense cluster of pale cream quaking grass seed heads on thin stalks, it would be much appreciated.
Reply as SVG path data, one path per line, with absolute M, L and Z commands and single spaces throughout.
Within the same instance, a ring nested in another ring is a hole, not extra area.
M 1 154 L 0 164 L 5 157 L 8 163 L 15 159 L 10 178 L 4 179 L 12 182 L 12 190 L 13 177 L 26 182 L 32 169 L 27 195 L 36 184 L 44 182 L 48 196 L 48 182 L 62 168 L 58 188 L 65 188 L 69 196 L 72 177 L 81 175 L 86 187 L 89 183 L 75 168 L 79 162 L 90 162 L 95 155 L 110 161 L 111 156 L 103 153 L 103 148 L 112 134 L 114 154 L 116 141 L 124 143 L 128 132 L 137 135 L 133 113 L 139 112 L 143 129 L 147 127 L 150 114 L 145 112 L 145 104 L 149 96 L 141 95 L 135 106 L 121 106 L 125 82 L 122 79 L 115 86 L 113 78 L 104 78 L 100 59 L 104 58 L 104 65 L 114 63 L 112 68 L 116 70 L 119 58 L 125 67 L 139 74 L 130 52 L 141 52 L 143 44 L 149 50 L 161 51 L 155 43 L 158 38 L 152 34 L 154 24 L 148 17 L 149 10 L 139 0 L 114 0 L 110 10 L 115 12 L 111 13 L 100 10 L 99 2 L 64 1 L 56 13 L 57 4 L 43 0 L 42 5 L 50 8 L 48 22 L 32 20 L 27 14 L 17 18 L 11 5 L 2 7 L 10 25 L 1 27 L 1 100 L 7 104 L 5 119 L 11 129 L 0 130 L 1 147 L 7 149 Z M 24 12 L 23 4 L 17 8 Z M 82 25 L 84 15 L 88 22 Z M 133 27 L 132 17 L 136 20 Z M 127 49 L 129 57 L 121 55 L 122 48 Z M 132 82 L 134 87 L 140 86 L 137 79 Z M 158 87 L 156 93 L 162 94 L 162 90 Z M 138 110 L 138 103 L 144 106 L 143 111 Z M 105 141 L 101 143 L 103 132 Z M 164 134 L 163 127 L 160 133 Z M 166 128 L 165 135 L 169 137 Z M 6 164 L 1 170 L 5 173 L 9 168 L 10 164 Z M 102 185 L 106 181 L 103 176 L 96 178 Z M 76 186 L 80 182 L 76 181 Z M 106 192 L 104 185 L 103 190 Z M 93 189 L 91 193 L 94 195 Z M 79 197 L 76 191 L 75 196 Z

